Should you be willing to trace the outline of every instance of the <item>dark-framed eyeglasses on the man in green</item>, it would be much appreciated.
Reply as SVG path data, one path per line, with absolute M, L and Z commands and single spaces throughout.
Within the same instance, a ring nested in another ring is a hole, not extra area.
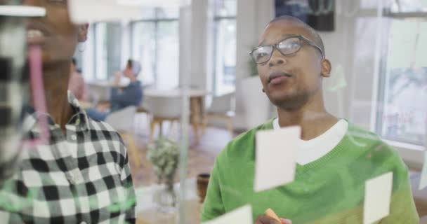
M 317 48 L 317 50 L 322 54 L 322 59 L 324 59 L 324 52 L 322 51 L 322 48 L 302 35 L 288 36 L 279 43 L 273 45 L 261 45 L 249 52 L 249 55 L 251 55 L 256 64 L 261 64 L 270 60 L 275 48 L 284 56 L 293 55 L 301 49 L 303 42 Z

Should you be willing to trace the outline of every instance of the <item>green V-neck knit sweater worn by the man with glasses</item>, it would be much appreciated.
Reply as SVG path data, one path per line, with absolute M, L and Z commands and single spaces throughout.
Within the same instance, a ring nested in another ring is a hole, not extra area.
M 272 129 L 272 120 L 239 135 L 218 155 L 202 209 L 202 221 L 251 204 L 252 216 L 272 208 L 298 223 L 362 223 L 364 183 L 393 172 L 390 215 L 379 223 L 419 223 L 407 167 L 376 134 L 348 125 L 339 144 L 322 158 L 297 165 L 295 180 L 254 192 L 255 133 Z

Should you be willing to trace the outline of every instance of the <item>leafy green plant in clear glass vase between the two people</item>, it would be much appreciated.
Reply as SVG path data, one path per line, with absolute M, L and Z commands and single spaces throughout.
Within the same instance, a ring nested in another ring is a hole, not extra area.
M 164 137 L 159 138 L 148 146 L 147 159 L 153 164 L 158 183 L 164 184 L 164 188 L 155 193 L 155 203 L 162 211 L 174 211 L 176 194 L 173 179 L 179 162 L 178 144 Z

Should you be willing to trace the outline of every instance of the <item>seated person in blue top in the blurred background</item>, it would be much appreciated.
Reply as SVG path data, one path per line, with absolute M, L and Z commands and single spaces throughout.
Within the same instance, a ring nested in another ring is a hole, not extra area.
M 136 79 L 140 70 L 140 63 L 129 59 L 124 71 L 117 72 L 114 75 L 114 83 L 110 97 L 110 108 L 100 106 L 97 109 L 87 109 L 86 112 L 88 113 L 88 116 L 95 120 L 105 120 L 107 115 L 114 111 L 124 109 L 127 106 L 139 106 L 143 100 L 143 87 L 141 82 Z M 129 78 L 129 85 L 121 87 L 122 78 Z

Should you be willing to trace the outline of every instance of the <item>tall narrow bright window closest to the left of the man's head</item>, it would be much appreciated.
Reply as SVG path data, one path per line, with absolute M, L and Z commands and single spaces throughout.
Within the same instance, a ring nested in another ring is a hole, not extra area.
M 235 90 L 236 0 L 216 0 L 213 25 L 213 87 L 215 94 Z

